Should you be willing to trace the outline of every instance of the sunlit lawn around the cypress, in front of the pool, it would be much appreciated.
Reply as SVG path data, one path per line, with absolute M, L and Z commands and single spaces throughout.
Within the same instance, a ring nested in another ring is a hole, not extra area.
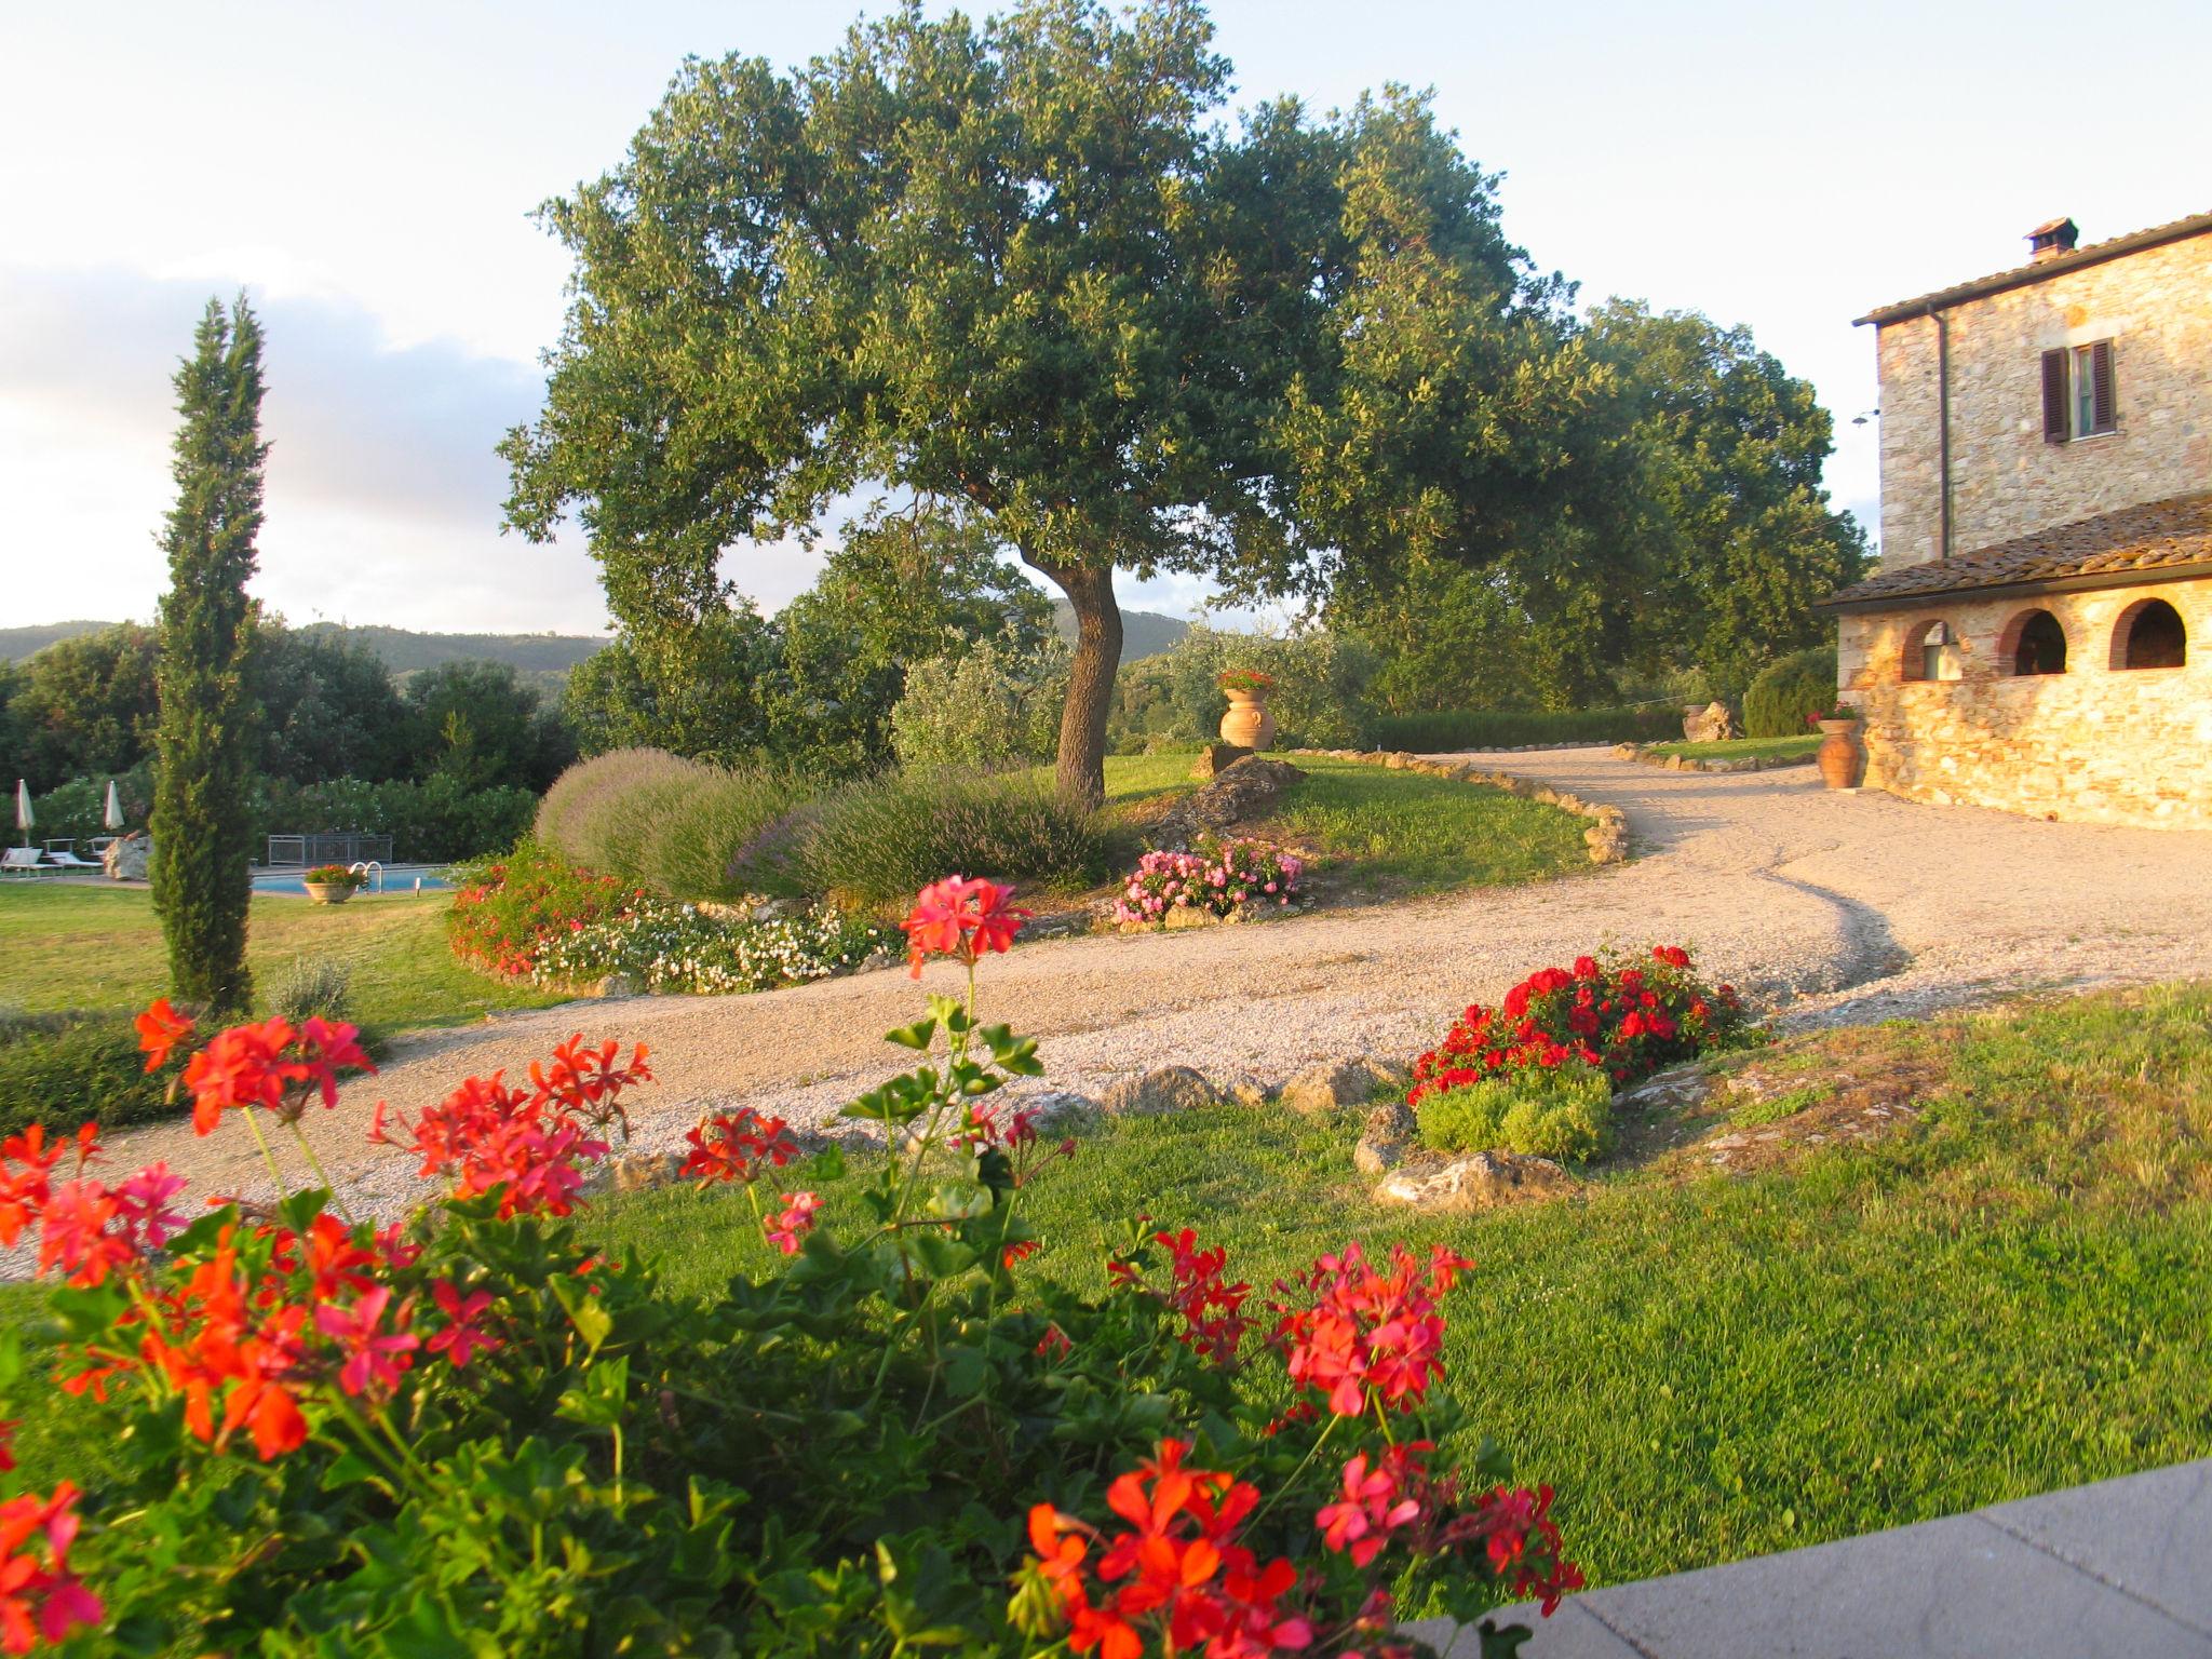
M 358 896 L 349 905 L 261 894 L 248 964 L 268 993 L 294 956 L 352 971 L 347 1018 L 376 1031 L 451 1026 L 493 1009 L 542 1009 L 560 995 L 489 980 L 445 945 L 442 896 Z M 161 925 L 144 887 L 0 885 L 0 1006 L 144 1009 L 168 989 Z

